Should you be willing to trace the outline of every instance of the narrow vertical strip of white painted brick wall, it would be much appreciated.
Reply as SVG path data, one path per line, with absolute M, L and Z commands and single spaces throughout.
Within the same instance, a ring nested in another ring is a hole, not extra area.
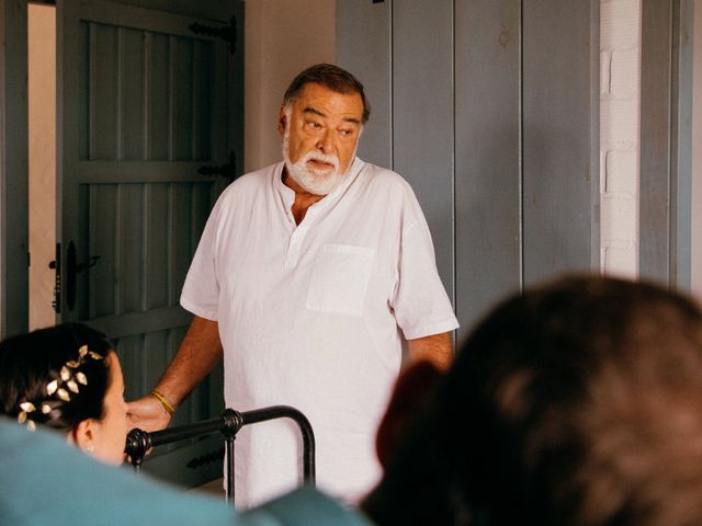
M 600 2 L 601 268 L 638 274 L 641 0 Z

